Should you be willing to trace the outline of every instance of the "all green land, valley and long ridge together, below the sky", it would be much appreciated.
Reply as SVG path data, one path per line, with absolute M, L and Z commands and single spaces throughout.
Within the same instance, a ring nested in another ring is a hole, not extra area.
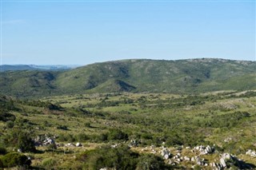
M 0 168 L 211 169 L 222 153 L 255 168 L 254 68 L 128 60 L 1 73 Z

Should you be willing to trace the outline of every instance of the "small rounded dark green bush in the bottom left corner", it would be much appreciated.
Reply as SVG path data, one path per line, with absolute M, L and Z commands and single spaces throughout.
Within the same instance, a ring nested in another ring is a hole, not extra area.
M 17 152 L 7 153 L 5 156 L 2 156 L 1 160 L 2 168 L 12 168 L 15 166 L 29 167 L 31 164 L 31 160 Z

